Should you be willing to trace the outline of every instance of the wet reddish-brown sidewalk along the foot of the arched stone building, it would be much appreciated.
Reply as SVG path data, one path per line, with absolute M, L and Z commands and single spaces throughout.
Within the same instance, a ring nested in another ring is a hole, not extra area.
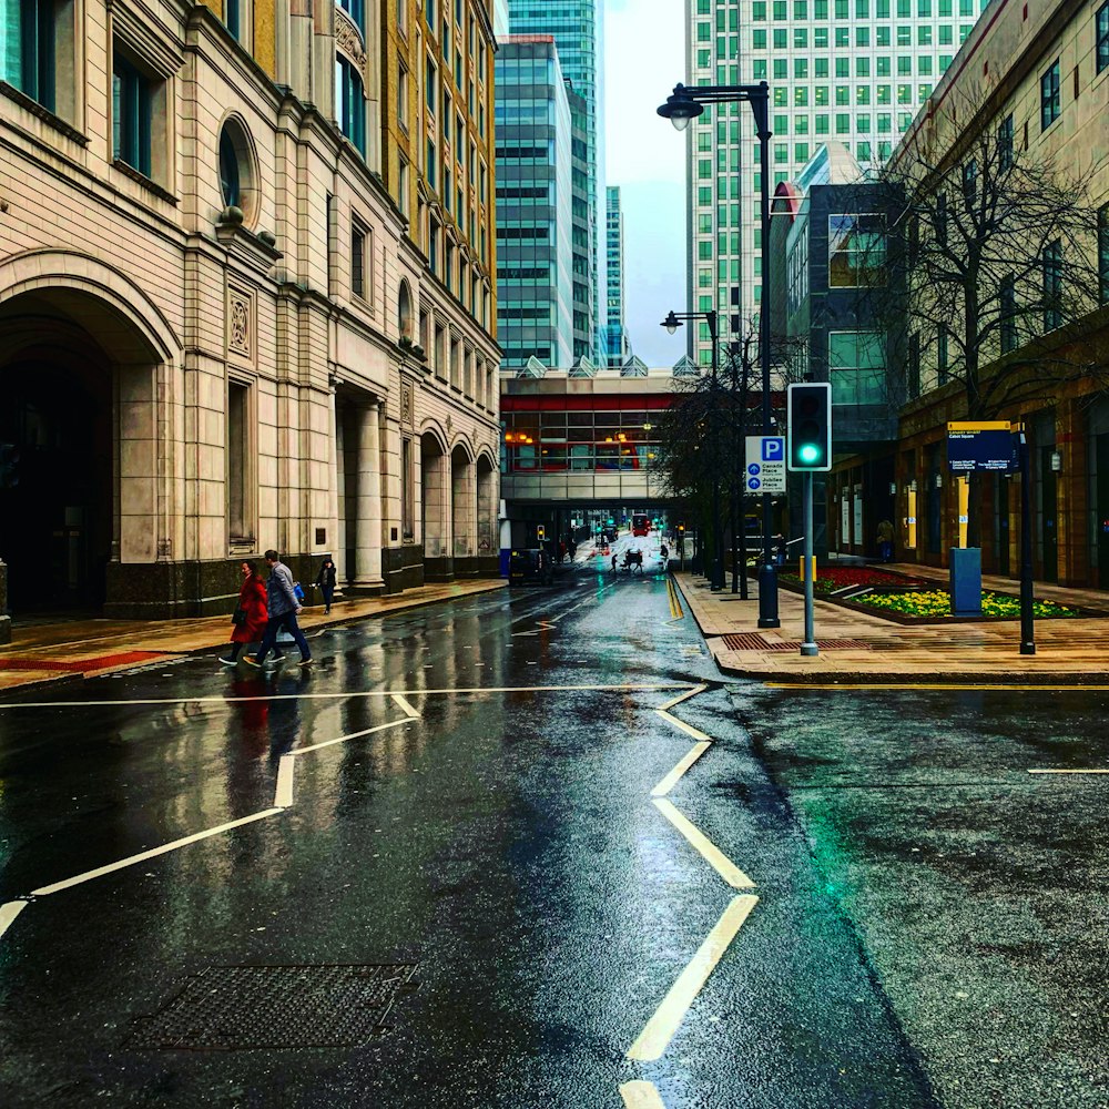
M 322 604 L 305 608 L 305 631 L 387 615 L 438 601 L 503 589 L 503 579 L 482 578 L 421 586 L 387 597 L 336 601 L 329 615 Z M 11 643 L 0 648 L 0 691 L 82 675 L 129 670 L 175 655 L 223 648 L 231 640 L 231 617 L 184 620 L 65 620 L 13 623 Z

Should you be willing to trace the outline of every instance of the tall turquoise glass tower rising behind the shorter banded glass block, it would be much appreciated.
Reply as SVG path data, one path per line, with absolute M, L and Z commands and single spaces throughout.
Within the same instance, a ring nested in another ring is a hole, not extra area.
M 588 333 L 588 340 L 576 344 L 574 356 L 597 359 L 601 326 L 604 324 L 604 288 L 602 277 L 604 257 L 601 247 L 601 213 L 604 205 L 603 166 L 604 147 L 601 131 L 603 116 L 602 94 L 602 35 L 603 0 L 509 0 L 509 27 L 512 35 L 551 34 L 558 48 L 562 72 L 570 81 L 572 92 L 581 98 L 581 112 L 576 126 L 581 132 L 584 155 L 583 166 L 588 200 L 584 213 L 588 241 L 576 244 L 581 255 L 574 272 L 578 330 Z M 584 271 L 581 265 L 584 264 Z M 598 359 L 599 360 L 599 359 Z

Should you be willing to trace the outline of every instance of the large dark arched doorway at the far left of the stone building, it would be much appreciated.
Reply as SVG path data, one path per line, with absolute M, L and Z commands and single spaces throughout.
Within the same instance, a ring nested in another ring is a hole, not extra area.
M 20 287 L 0 297 L 8 604 L 17 619 L 99 612 L 112 600 L 113 567 L 156 558 L 154 367 L 164 359 L 99 296 Z M 132 592 L 150 579 L 133 569 Z

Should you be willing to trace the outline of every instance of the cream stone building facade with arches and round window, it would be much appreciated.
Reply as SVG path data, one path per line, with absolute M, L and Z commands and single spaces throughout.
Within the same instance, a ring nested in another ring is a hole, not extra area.
M 226 611 L 269 547 L 305 582 L 333 556 L 349 590 L 496 572 L 492 261 L 462 292 L 410 215 L 444 183 L 383 173 L 398 9 L 18 10 L 41 41 L 9 17 L 0 51 L 10 607 Z M 441 16 L 494 49 L 480 0 Z

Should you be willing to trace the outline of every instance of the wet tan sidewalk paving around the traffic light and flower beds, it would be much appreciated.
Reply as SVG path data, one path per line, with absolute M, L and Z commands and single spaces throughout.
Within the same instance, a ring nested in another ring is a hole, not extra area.
M 947 571 L 893 564 L 918 578 L 947 582 Z M 1019 620 L 899 624 L 830 601 L 814 607 L 820 654 L 803 658 L 804 598 L 779 590 L 781 628 L 759 627 L 759 586 L 749 601 L 729 590 L 713 593 L 705 579 L 675 573 L 682 596 L 725 673 L 772 682 L 932 684 L 1109 684 L 1109 618 L 1037 620 L 1036 654 L 1022 655 Z M 985 589 L 1015 593 L 1008 578 L 983 577 Z M 1036 583 L 1037 599 L 1078 608 L 1109 609 L 1109 596 L 1092 589 Z

